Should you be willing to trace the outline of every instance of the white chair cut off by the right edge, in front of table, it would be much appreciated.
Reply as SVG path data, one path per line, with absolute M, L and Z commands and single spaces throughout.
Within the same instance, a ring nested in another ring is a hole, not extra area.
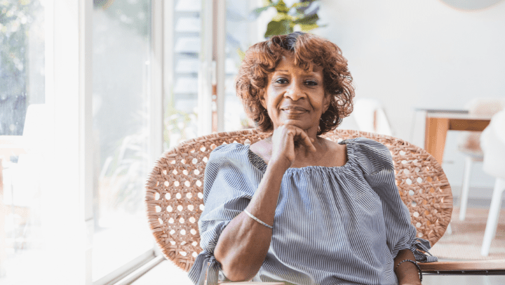
M 484 153 L 483 170 L 496 178 L 480 250 L 482 256 L 488 256 L 491 241 L 497 232 L 501 196 L 505 190 L 505 110 L 494 114 L 490 125 L 480 135 L 480 146 Z

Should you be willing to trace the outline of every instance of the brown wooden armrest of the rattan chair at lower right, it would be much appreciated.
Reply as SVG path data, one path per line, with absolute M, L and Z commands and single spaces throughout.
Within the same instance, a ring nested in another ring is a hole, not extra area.
M 505 275 L 505 260 L 442 261 L 418 264 L 424 274 Z

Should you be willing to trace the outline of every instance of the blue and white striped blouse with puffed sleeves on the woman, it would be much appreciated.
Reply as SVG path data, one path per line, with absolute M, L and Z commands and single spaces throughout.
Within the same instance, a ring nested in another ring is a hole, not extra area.
M 401 249 L 410 249 L 418 261 L 436 261 L 417 251 L 430 245 L 415 237 L 387 147 L 366 138 L 341 144 L 349 159 L 344 166 L 285 172 L 270 248 L 253 281 L 398 284 L 393 258 Z M 248 206 L 266 168 L 248 145 L 222 145 L 210 154 L 198 221 L 203 252 L 189 272 L 195 284 L 206 275 L 209 285 L 223 278 L 213 256 L 217 239 Z

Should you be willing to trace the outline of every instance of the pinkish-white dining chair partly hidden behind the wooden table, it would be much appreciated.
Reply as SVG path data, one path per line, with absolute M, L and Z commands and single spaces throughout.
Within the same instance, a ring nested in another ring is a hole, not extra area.
M 492 116 L 504 110 L 505 98 L 475 98 L 465 105 L 465 109 L 473 116 Z M 483 151 L 480 148 L 480 131 L 462 132 L 458 139 L 458 150 L 465 155 L 461 200 L 459 203 L 459 220 L 465 220 L 466 207 L 470 192 L 471 168 L 476 161 L 483 161 Z

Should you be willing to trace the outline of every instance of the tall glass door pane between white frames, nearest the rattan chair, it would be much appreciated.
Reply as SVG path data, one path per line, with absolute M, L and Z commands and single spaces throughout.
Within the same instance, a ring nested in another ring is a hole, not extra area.
M 144 181 L 149 165 L 152 1 L 94 1 L 94 284 L 154 255 Z

